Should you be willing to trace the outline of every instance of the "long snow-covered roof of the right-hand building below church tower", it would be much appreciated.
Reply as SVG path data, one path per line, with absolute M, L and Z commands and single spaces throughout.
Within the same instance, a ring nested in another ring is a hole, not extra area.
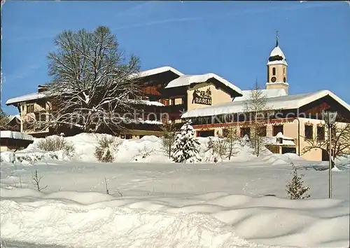
M 301 106 L 314 102 L 316 99 L 330 95 L 339 104 L 344 106 L 350 111 L 350 105 L 344 102 L 342 99 L 337 97 L 329 90 L 320 90 L 311 93 L 297 94 L 297 95 L 285 95 L 280 97 L 269 97 L 267 98 L 267 109 L 298 109 Z M 183 113 L 181 118 L 192 118 L 197 116 L 216 116 L 227 113 L 244 113 L 244 104 L 247 100 L 228 102 L 225 104 L 217 104 L 214 106 L 208 106 L 200 109 L 191 109 L 186 113 Z

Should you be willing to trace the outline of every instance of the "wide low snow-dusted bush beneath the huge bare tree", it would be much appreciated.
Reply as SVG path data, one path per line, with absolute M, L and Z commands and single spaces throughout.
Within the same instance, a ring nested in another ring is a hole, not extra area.
M 63 137 L 57 136 L 39 139 L 36 142 L 36 147 L 43 151 L 64 151 L 66 156 L 73 156 L 76 151 L 73 143 L 67 141 Z

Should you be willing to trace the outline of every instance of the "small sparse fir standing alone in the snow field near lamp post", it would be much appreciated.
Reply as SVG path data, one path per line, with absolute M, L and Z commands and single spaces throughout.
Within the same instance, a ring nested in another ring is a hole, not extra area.
M 286 185 L 287 195 L 291 200 L 304 199 L 310 197 L 310 195 L 307 194 L 307 191 L 309 191 L 310 187 L 304 186 L 304 182 L 302 181 L 303 176 L 303 174 L 298 176 L 297 169 L 293 166 L 293 177 L 291 181 L 289 181 Z

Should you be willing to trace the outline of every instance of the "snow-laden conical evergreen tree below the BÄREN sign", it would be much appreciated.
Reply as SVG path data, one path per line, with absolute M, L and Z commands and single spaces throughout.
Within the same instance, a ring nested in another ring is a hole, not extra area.
M 200 162 L 200 155 L 197 145 L 200 142 L 195 137 L 190 121 L 181 127 L 181 131 L 176 135 L 174 152 L 172 159 L 176 163 L 196 163 Z

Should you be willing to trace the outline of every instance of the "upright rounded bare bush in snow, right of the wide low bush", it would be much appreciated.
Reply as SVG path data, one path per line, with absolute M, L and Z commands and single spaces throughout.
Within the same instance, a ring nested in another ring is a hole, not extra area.
M 99 162 L 112 163 L 114 161 L 113 153 L 118 149 L 122 142 L 113 136 L 102 136 L 98 140 L 94 156 Z

